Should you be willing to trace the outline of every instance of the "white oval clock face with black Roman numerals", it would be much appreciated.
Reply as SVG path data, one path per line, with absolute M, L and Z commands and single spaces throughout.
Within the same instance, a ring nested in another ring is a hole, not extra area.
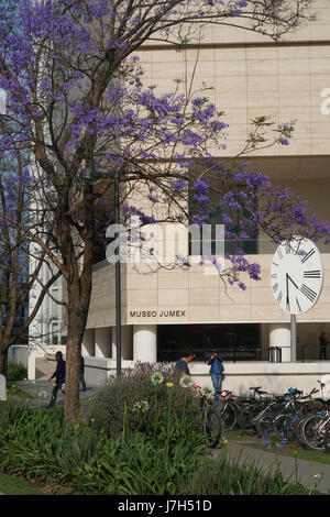
M 317 302 L 323 285 L 321 255 L 314 242 L 285 241 L 273 256 L 271 284 L 275 300 L 290 315 L 301 315 Z

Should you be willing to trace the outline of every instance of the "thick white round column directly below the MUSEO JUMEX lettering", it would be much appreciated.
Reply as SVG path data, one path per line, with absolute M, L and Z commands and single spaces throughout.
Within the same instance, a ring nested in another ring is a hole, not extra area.
M 157 326 L 134 324 L 133 360 L 148 363 L 157 361 Z

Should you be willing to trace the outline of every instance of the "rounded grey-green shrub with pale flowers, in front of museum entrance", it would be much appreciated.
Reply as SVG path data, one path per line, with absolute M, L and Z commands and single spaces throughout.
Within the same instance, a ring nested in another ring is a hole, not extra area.
M 160 380 L 158 384 L 157 375 Z M 154 377 L 153 377 L 154 376 Z M 90 419 L 97 431 L 103 430 L 108 437 L 118 437 L 123 428 L 123 410 L 127 408 L 129 432 L 157 432 L 160 421 L 167 418 L 168 388 L 170 388 L 172 414 L 187 418 L 195 432 L 201 432 L 201 413 L 198 402 L 189 388 L 179 385 L 180 374 L 168 364 L 153 365 L 140 363 L 134 370 L 111 377 L 97 394 Z

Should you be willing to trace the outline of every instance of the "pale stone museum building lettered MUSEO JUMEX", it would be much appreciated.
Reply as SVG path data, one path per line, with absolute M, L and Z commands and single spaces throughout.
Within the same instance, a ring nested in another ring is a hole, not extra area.
M 212 88 L 208 96 L 226 111 L 223 121 L 229 124 L 227 147 L 216 150 L 219 160 L 241 152 L 255 117 L 270 116 L 275 124 L 296 120 L 288 146 L 265 147 L 244 161 L 268 175 L 274 185 L 289 187 L 306 199 L 321 220 L 330 220 L 330 114 L 324 94 L 330 88 L 330 6 L 318 0 L 315 10 L 321 15 L 286 35 L 285 42 L 237 28 L 208 26 L 198 47 L 187 45 L 177 52 L 173 45 L 150 42 L 139 57 L 145 84 L 156 84 L 158 91 L 172 90 L 175 79 L 187 80 L 193 70 L 196 90 L 202 84 Z M 184 245 L 188 249 L 188 238 Z M 319 361 L 318 348 L 320 332 L 330 341 L 329 245 L 319 245 L 323 266 L 320 296 L 310 310 L 296 318 L 294 363 L 290 316 L 276 302 L 271 284 L 276 246 L 263 238 L 246 241 L 244 246 L 262 271 L 258 282 L 243 277 L 245 290 L 226 287 L 219 275 L 198 261 L 190 267 L 152 273 L 139 271 L 133 263 L 122 264 L 122 367 L 144 361 L 175 362 L 189 346 L 196 353 L 190 370 L 201 385 L 210 384 L 206 362 L 211 352 L 219 351 L 227 389 L 318 387 L 317 380 L 330 373 L 330 346 L 328 361 Z M 95 264 L 82 342 L 86 377 L 92 384 L 116 373 L 114 286 L 114 265 L 107 260 Z M 61 288 L 61 283 L 54 286 L 57 292 Z M 65 344 L 62 314 L 53 322 L 47 318 L 53 310 L 62 310 L 53 305 L 48 298 L 40 319 L 48 326 L 41 336 L 51 332 L 50 324 L 55 326 L 52 351 Z

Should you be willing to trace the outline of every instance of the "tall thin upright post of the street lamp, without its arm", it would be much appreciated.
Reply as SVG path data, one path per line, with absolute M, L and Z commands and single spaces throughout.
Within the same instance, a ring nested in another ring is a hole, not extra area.
M 120 224 L 119 173 L 114 174 L 114 210 L 116 224 Z M 118 227 L 117 227 L 118 228 Z M 121 374 L 121 278 L 120 278 L 120 233 L 118 232 L 118 260 L 116 262 L 116 341 L 117 341 L 117 375 Z

